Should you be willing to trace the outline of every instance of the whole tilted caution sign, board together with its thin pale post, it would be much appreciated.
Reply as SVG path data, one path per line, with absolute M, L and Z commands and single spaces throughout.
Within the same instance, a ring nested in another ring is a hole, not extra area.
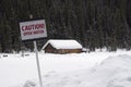
M 21 22 L 20 23 L 20 30 L 21 30 L 21 38 L 23 41 L 34 40 L 39 85 L 40 85 L 40 87 L 43 87 L 36 39 L 47 37 L 45 20 Z

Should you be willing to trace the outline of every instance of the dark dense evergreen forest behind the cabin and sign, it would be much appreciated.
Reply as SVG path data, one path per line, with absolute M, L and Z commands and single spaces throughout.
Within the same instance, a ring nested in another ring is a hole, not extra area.
M 91 51 L 131 49 L 131 0 L 0 0 L 0 52 L 33 50 L 22 42 L 19 22 L 45 18 L 48 39 L 76 39 Z

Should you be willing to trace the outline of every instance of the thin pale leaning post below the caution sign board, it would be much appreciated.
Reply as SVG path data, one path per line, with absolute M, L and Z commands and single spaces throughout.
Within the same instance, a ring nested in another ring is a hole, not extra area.
M 35 53 L 36 53 L 36 63 L 37 63 L 39 85 L 40 85 L 40 87 L 43 87 L 43 80 L 41 80 L 41 74 L 40 74 L 40 66 L 39 66 L 38 50 L 37 50 L 36 40 L 34 40 L 34 47 L 35 47 Z

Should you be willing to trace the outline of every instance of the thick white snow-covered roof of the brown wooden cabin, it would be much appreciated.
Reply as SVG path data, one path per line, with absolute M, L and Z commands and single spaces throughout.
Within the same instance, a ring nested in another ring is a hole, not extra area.
M 45 49 L 47 45 L 51 45 L 56 49 L 82 49 L 82 45 L 80 45 L 76 40 L 61 40 L 61 39 L 50 39 L 43 47 Z

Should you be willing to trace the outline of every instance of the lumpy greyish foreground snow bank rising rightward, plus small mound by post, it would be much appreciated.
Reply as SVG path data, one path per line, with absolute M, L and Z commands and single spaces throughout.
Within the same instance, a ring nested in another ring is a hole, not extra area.
M 129 55 L 109 57 L 91 70 L 70 73 L 50 72 L 43 76 L 43 84 L 44 87 L 130 87 L 130 66 Z M 24 87 L 39 87 L 38 82 L 31 82 L 33 86 L 26 83 Z

